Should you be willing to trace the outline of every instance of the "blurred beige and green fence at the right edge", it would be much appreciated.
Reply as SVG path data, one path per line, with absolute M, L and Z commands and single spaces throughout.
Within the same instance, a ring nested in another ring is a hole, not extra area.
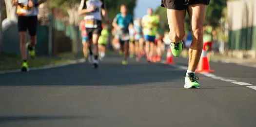
M 228 1 L 229 50 L 256 51 L 256 0 Z

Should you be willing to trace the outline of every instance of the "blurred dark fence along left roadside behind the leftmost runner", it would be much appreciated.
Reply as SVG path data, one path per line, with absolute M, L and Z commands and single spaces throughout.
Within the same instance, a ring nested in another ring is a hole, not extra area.
M 70 25 L 58 9 L 47 13 L 47 21 L 39 19 L 37 46 L 38 55 L 56 55 L 63 52 L 78 53 L 80 47 L 80 31 L 78 25 Z M 43 23 L 42 23 L 43 22 Z M 27 37 L 27 42 L 29 37 Z M 1 52 L 20 54 L 20 38 L 17 21 L 3 22 Z

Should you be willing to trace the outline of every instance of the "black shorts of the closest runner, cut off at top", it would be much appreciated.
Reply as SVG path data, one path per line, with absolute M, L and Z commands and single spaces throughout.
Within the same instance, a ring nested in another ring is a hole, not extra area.
M 185 10 L 189 5 L 205 4 L 208 5 L 210 0 L 162 0 L 161 6 L 168 9 Z

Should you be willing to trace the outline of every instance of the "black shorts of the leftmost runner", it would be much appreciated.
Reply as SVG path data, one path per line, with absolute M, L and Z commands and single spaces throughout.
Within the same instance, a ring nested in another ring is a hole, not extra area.
M 19 32 L 26 32 L 28 30 L 28 33 L 30 36 L 36 36 L 37 25 L 38 25 L 37 16 L 31 16 L 31 17 L 19 16 L 18 17 Z

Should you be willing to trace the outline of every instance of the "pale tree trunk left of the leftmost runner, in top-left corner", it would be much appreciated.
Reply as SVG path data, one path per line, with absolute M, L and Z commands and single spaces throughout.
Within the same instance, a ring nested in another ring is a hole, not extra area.
M 4 0 L 6 6 L 6 15 L 9 20 L 17 20 L 16 7 L 13 6 L 12 0 Z

